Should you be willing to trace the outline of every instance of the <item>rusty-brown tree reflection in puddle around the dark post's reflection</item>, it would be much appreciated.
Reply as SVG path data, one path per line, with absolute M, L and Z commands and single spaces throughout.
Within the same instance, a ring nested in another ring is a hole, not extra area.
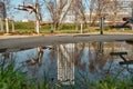
M 110 56 L 111 50 L 114 50 L 113 44 L 111 44 L 111 47 L 106 47 L 103 42 L 93 42 L 89 44 L 89 69 L 91 72 L 103 70 L 106 62 L 112 63 L 112 57 Z

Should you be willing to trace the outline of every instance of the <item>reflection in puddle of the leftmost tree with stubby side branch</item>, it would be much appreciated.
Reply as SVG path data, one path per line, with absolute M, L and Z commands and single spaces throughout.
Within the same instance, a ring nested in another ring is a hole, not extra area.
M 48 57 L 49 57 L 49 60 L 52 62 L 54 59 L 54 57 L 53 57 L 54 56 L 54 47 L 48 47 L 48 46 L 38 47 L 35 55 L 30 56 L 30 59 L 24 61 L 24 65 L 28 68 L 28 72 L 29 72 L 29 76 L 31 76 L 31 78 L 32 77 L 37 78 L 39 72 L 41 72 L 41 71 L 43 71 L 42 73 L 45 72 L 45 70 L 42 70 L 43 69 L 42 66 L 45 63 L 45 62 L 43 62 L 44 61 L 43 56 L 44 56 L 44 52 L 47 52 L 47 51 L 50 51 Z M 50 67 L 52 68 L 52 66 L 50 66 Z

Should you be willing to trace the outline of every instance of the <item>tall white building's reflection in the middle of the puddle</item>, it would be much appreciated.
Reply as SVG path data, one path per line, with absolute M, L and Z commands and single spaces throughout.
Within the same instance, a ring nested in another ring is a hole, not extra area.
M 58 80 L 63 85 L 74 85 L 74 44 L 58 47 Z

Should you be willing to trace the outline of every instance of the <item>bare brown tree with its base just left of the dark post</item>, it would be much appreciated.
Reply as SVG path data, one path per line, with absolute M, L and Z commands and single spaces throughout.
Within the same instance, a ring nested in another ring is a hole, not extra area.
M 86 7 L 90 10 L 90 22 L 91 26 L 94 26 L 96 21 L 99 21 L 100 17 L 106 14 L 108 6 L 111 0 L 85 0 Z

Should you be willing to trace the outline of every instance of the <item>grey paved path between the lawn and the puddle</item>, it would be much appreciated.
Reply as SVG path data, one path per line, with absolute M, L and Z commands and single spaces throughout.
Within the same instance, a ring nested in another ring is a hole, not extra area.
M 60 43 L 125 40 L 133 40 L 133 34 L 7 36 L 0 37 L 0 50 L 10 51 L 11 49 L 19 50 Z

